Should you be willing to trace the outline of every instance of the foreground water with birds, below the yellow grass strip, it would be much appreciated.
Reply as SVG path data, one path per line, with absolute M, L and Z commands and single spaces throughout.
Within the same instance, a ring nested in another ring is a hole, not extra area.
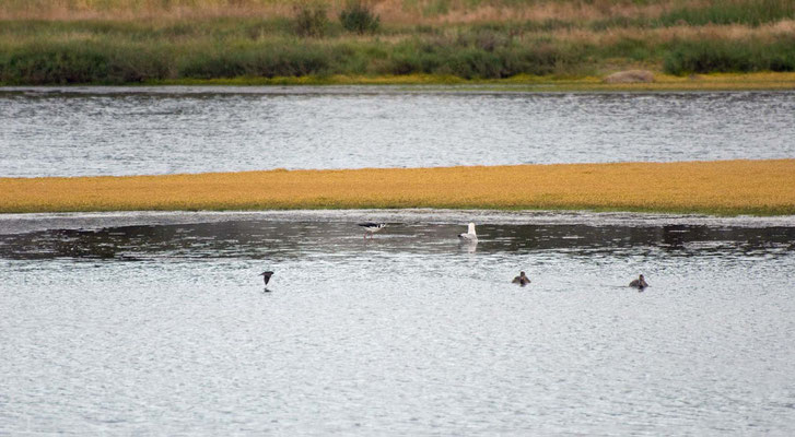
M 0 434 L 792 435 L 794 275 L 795 217 L 3 215 Z

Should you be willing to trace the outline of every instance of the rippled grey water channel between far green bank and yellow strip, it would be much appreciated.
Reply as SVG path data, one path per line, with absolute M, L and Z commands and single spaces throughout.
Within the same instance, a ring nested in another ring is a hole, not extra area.
M 0 176 L 795 156 L 795 93 L 0 88 Z

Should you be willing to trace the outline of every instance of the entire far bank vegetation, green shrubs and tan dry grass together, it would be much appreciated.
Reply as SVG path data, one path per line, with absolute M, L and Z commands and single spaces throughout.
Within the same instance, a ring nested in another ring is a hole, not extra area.
M 3 0 L 0 83 L 795 71 L 793 0 Z

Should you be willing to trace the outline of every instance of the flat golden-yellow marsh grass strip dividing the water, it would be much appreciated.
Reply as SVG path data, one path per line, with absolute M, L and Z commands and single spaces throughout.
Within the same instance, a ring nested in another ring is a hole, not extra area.
M 0 178 L 0 212 L 594 209 L 795 214 L 795 160 Z

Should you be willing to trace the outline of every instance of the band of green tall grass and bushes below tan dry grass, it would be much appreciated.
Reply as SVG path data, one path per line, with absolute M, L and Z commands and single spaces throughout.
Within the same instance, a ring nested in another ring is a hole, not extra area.
M 589 75 L 600 62 L 664 60 L 671 74 L 795 71 L 795 37 L 651 42 L 512 38 L 488 32 L 384 40 L 295 37 L 141 39 L 72 37 L 0 43 L 0 83 L 124 84 L 237 76 L 437 74 L 463 79 Z

